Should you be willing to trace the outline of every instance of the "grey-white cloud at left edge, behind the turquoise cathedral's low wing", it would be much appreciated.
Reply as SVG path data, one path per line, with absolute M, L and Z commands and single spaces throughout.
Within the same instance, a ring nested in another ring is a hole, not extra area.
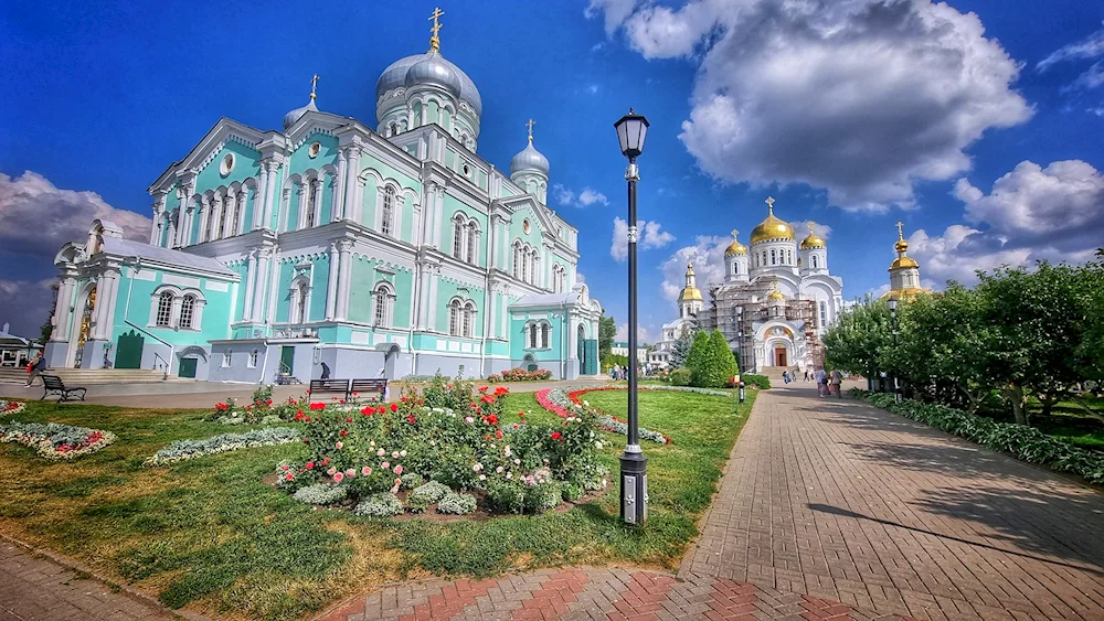
M 108 205 L 95 192 L 61 190 L 39 173 L 0 173 L 0 253 L 53 259 L 66 242 L 88 236 L 92 221 L 109 220 L 128 238 L 149 238 L 152 221 Z

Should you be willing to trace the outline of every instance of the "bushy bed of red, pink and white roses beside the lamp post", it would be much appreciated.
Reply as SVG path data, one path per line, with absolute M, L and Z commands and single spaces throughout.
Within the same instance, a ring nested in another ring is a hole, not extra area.
M 461 490 L 478 492 L 492 513 L 540 513 L 602 489 L 603 442 L 593 418 L 506 425 L 508 393 L 437 377 L 423 393 L 405 388 L 388 405 L 311 403 L 296 416 L 306 425 L 310 456 L 280 464 L 276 484 L 293 493 L 319 483 L 344 489 L 354 513 L 374 517 L 422 513 L 433 504 L 440 514 L 467 514 L 477 501 L 454 493 Z M 311 488 L 306 496 L 340 493 Z

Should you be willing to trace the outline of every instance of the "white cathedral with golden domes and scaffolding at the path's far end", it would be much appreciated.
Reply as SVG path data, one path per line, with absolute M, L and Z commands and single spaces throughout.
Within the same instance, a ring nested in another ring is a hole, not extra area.
M 650 364 L 669 366 L 675 341 L 694 328 L 720 329 L 743 371 L 821 364 L 820 335 L 842 309 L 843 280 L 828 271 L 828 245 L 813 223 L 798 242 L 794 227 L 774 215 L 774 199 L 766 204 L 767 217 L 752 231 L 750 248 L 732 232 L 724 279 L 707 285 L 708 307 L 693 266 L 687 266 L 679 318 L 664 324 Z

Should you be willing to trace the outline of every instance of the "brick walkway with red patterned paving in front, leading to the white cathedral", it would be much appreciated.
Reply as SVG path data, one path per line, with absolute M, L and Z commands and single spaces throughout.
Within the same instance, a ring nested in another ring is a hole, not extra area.
M 808 386 L 761 394 L 678 578 L 407 582 L 319 619 L 1104 619 L 1104 494 Z

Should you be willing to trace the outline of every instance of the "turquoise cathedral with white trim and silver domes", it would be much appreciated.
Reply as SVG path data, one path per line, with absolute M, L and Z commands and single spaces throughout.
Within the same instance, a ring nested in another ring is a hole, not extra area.
M 380 76 L 376 125 L 306 106 L 280 130 L 223 118 L 149 188 L 149 243 L 96 221 L 66 244 L 52 367 L 277 377 L 596 374 L 599 303 L 529 143 L 476 153 L 479 90 L 440 54 Z

